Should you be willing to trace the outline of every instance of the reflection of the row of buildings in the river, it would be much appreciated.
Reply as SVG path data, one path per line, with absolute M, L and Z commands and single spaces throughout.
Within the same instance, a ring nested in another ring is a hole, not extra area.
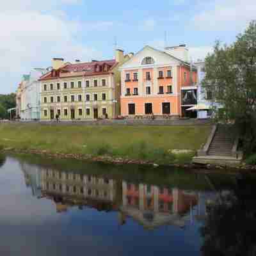
M 163 225 L 184 228 L 186 223 L 205 220 L 207 205 L 216 196 L 24 163 L 21 167 L 33 195 L 52 200 L 56 212 L 67 212 L 72 207 L 116 211 L 120 225 L 132 218 L 146 229 Z

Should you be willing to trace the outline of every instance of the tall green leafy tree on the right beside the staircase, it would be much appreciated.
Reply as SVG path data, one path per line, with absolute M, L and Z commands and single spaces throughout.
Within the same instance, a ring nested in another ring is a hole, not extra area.
M 232 45 L 216 42 L 214 53 L 205 59 L 203 85 L 210 90 L 218 121 L 234 121 L 244 134 L 244 149 L 256 150 L 256 21 L 252 21 Z

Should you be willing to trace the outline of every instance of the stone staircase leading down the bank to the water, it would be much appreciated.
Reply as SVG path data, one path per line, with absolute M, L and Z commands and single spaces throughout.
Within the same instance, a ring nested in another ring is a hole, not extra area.
M 233 145 L 234 136 L 232 132 L 230 132 L 230 129 L 225 125 L 218 125 L 207 155 L 231 157 Z

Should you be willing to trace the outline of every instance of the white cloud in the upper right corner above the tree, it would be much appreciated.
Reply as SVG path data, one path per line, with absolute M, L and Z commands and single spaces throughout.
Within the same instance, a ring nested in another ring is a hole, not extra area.
M 200 9 L 193 17 L 193 23 L 196 29 L 207 31 L 241 31 L 256 17 L 255 0 L 215 0 L 205 4 L 201 2 Z

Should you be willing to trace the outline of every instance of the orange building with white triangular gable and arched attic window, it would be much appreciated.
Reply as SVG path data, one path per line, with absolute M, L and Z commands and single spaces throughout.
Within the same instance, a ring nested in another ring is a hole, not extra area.
M 186 45 L 144 47 L 120 67 L 122 116 L 186 116 L 197 104 L 196 69 Z

